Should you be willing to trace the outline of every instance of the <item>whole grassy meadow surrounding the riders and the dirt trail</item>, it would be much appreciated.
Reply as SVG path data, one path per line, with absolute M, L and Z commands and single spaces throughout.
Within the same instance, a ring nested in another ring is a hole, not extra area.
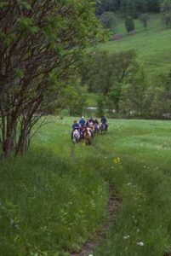
M 78 251 L 105 220 L 108 183 L 121 206 L 107 239 L 88 253 L 170 252 L 170 121 L 110 119 L 90 147 L 73 146 L 72 121 L 54 118 L 26 156 L 0 160 L 0 255 Z

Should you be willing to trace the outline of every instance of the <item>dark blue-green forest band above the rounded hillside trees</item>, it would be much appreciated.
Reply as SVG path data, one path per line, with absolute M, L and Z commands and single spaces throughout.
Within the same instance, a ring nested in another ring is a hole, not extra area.
M 162 0 L 95 0 L 96 15 L 104 12 L 120 11 L 123 16 L 131 15 L 134 18 L 145 12 L 160 12 Z

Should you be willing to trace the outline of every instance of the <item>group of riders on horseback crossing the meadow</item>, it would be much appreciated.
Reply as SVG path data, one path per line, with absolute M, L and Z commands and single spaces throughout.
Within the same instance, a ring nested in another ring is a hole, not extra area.
M 77 122 L 77 120 L 74 121 L 71 131 L 71 139 L 74 143 L 78 143 L 84 139 L 86 145 L 90 145 L 94 136 L 98 135 L 100 131 L 102 134 L 107 131 L 107 129 L 108 125 L 105 116 L 101 118 L 100 124 L 98 119 L 93 119 L 91 117 L 86 121 L 84 117 L 82 117 L 79 122 Z

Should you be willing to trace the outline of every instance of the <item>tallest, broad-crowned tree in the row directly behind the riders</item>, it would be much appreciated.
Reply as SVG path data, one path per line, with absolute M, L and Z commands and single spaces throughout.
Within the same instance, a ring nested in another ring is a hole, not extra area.
M 86 83 L 90 92 L 100 92 L 104 95 L 98 103 L 100 107 L 107 104 L 108 107 L 110 105 L 119 111 L 124 80 L 132 78 L 138 70 L 135 56 L 134 50 L 112 55 L 105 51 L 94 53 L 89 62 Z

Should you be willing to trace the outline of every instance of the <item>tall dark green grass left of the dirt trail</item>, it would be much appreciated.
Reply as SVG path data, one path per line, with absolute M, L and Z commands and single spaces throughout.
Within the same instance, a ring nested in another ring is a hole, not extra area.
M 2 160 L 0 175 L 2 256 L 68 255 L 105 217 L 107 188 L 88 164 L 40 147 Z

